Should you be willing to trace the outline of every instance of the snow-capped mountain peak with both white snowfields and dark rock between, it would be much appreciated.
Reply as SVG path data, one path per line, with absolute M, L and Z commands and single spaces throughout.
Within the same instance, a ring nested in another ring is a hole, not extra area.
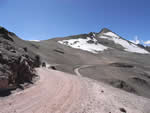
M 74 36 L 68 39 L 65 38 L 64 40 L 59 40 L 58 43 L 96 54 L 100 51 L 107 50 L 108 48 L 133 53 L 149 54 L 149 52 L 144 48 L 121 38 L 119 35 L 107 28 L 102 29 L 100 33 L 91 32 L 86 35 L 77 35 L 77 37 Z

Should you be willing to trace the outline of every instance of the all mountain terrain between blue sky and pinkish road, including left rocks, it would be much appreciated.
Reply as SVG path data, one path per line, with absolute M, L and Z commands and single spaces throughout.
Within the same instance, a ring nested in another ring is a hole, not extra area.
M 107 28 L 98 33 L 25 41 L 1 27 L 0 57 L 2 91 L 34 83 L 35 67 L 45 63 L 47 68 L 150 98 L 150 48 Z

